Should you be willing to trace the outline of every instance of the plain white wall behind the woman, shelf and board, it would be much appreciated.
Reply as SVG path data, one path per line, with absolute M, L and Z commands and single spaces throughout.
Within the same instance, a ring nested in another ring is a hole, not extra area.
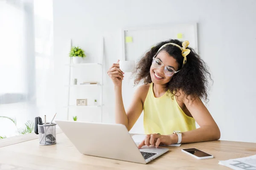
M 221 129 L 221 139 L 256 142 L 255 8 L 255 0 L 54 0 L 56 108 L 61 113 L 58 119 L 66 118 L 62 108 L 67 100 L 63 87 L 68 76 L 64 60 L 70 38 L 81 44 L 104 35 L 103 121 L 114 122 L 113 84 L 106 72 L 122 55 L 120 29 L 197 22 L 199 53 L 214 79 L 207 108 Z M 142 119 L 133 132 L 143 133 Z

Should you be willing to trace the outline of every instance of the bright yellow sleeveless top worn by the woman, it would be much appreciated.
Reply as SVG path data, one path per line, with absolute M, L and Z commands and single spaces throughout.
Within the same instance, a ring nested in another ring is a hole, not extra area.
M 178 105 L 175 96 L 164 94 L 156 98 L 153 93 L 153 83 L 148 90 L 143 105 L 145 134 L 160 133 L 172 134 L 174 130 L 181 132 L 194 130 L 195 119 L 187 116 Z

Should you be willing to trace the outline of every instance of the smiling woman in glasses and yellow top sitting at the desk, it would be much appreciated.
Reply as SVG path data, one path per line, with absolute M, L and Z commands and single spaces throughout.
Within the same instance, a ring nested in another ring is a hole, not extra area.
M 124 73 L 115 63 L 108 70 L 115 89 L 116 123 L 131 130 L 144 112 L 144 130 L 148 135 L 139 148 L 218 140 L 221 136 L 201 100 L 207 100 L 209 71 L 188 45 L 188 41 L 179 40 L 160 42 L 140 59 L 134 69 L 134 83 L 143 85 L 135 92 L 127 111 L 122 102 Z

